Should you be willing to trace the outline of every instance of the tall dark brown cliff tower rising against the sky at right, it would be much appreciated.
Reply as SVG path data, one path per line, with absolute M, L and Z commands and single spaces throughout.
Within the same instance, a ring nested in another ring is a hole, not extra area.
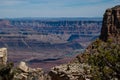
M 100 39 L 106 41 L 110 37 L 120 36 L 120 5 L 107 9 L 101 29 Z

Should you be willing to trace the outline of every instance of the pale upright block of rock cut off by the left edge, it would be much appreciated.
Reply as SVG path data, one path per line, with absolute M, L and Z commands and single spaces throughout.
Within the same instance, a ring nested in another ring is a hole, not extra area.
M 7 48 L 0 49 L 0 63 L 4 65 L 7 63 Z

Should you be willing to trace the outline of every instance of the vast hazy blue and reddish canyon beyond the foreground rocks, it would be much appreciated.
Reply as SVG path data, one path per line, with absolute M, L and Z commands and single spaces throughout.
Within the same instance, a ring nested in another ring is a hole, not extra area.
M 67 63 L 100 35 L 101 18 L 15 18 L 0 20 L 0 47 L 15 64 L 45 70 Z

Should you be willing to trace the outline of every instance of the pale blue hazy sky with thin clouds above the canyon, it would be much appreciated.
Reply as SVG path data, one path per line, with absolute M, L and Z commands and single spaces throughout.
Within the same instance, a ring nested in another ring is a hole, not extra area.
M 120 0 L 0 0 L 0 18 L 102 17 Z

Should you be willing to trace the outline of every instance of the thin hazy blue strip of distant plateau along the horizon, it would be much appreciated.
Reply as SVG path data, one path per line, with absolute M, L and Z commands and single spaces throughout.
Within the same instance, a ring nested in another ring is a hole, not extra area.
M 0 18 L 1 20 L 40 20 L 40 21 L 102 21 L 103 17 L 21 17 Z

